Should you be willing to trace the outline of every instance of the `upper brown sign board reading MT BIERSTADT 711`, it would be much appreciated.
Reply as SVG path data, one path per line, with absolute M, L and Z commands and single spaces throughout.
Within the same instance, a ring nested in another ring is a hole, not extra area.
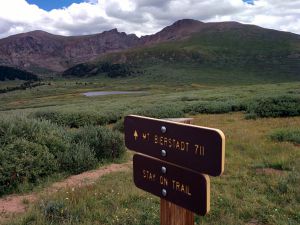
M 221 130 L 134 115 L 124 126 L 128 149 L 211 176 L 224 171 Z

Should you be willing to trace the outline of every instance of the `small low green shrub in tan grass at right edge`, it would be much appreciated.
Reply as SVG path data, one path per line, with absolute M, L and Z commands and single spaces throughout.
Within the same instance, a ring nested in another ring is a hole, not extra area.
M 300 128 L 275 130 L 270 134 L 270 138 L 274 141 L 289 141 L 300 144 Z

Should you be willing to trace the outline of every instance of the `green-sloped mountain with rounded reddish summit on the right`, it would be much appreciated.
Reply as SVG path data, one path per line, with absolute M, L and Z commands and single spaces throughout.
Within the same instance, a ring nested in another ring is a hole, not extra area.
M 141 40 L 139 48 L 76 65 L 64 75 L 105 74 L 101 68 L 110 63 L 129 68 L 128 76 L 140 69 L 172 78 L 170 73 L 183 68 L 181 76 L 194 73 L 199 78 L 213 70 L 214 79 L 247 79 L 251 73 L 258 80 L 300 80 L 300 36 L 296 34 L 235 22 L 183 20 Z

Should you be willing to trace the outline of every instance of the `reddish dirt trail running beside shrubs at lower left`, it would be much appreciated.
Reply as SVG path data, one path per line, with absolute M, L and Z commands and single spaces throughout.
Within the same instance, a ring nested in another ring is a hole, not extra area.
M 53 183 L 45 188 L 41 193 L 31 193 L 26 195 L 8 195 L 0 198 L 0 224 L 15 214 L 23 213 L 29 206 L 38 199 L 42 193 L 54 193 L 60 189 L 68 187 L 83 187 L 93 184 L 98 178 L 111 172 L 124 171 L 130 168 L 131 162 L 123 164 L 110 164 L 97 170 L 87 171 L 78 175 L 68 177 L 66 180 Z

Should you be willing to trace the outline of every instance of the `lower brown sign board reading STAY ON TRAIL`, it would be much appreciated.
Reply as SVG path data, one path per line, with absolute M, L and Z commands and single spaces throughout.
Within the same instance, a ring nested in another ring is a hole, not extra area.
M 143 155 L 133 156 L 133 177 L 138 188 L 199 215 L 210 208 L 207 175 Z

